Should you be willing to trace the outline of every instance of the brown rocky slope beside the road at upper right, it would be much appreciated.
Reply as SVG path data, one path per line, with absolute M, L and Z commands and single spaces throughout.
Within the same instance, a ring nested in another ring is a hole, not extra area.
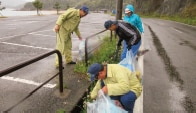
M 147 14 L 196 17 L 196 0 L 137 0 L 136 8 Z

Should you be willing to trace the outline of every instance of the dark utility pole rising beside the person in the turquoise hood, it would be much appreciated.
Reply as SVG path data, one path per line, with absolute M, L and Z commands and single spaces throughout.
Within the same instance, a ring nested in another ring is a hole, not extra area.
M 116 20 L 122 20 L 122 8 L 123 8 L 123 0 L 117 0 L 116 2 Z

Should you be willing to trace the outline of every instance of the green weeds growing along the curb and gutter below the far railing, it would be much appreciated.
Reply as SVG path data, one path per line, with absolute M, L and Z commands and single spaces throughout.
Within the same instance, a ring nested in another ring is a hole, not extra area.
M 90 66 L 93 63 L 118 63 L 119 62 L 119 57 L 118 59 L 115 59 L 116 55 L 116 43 L 118 39 L 115 38 L 114 36 L 112 37 L 112 41 L 110 40 L 109 36 L 106 36 L 102 40 L 102 45 L 94 51 L 94 53 L 91 55 L 91 57 L 88 59 L 88 66 Z M 120 56 L 120 52 L 118 52 L 118 56 Z M 76 64 L 74 68 L 74 72 L 80 73 L 83 75 L 87 75 L 87 69 L 88 66 L 86 67 L 86 64 L 84 61 L 79 62 Z M 87 78 L 87 76 L 85 77 Z M 83 110 L 80 111 L 80 113 L 87 113 L 87 102 L 92 102 L 92 99 L 89 96 L 89 92 L 93 89 L 95 86 L 96 81 L 91 83 L 89 87 L 89 91 L 87 91 L 87 95 L 83 97 Z

